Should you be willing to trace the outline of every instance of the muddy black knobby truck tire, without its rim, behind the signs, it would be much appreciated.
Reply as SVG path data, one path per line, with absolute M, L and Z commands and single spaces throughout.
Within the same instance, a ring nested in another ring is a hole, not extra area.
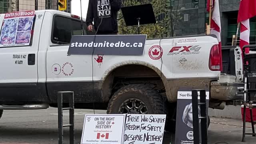
M 140 100 L 144 103 L 148 109 L 147 114 L 166 114 L 164 98 L 146 84 L 130 84 L 120 88 L 110 99 L 107 114 L 122 114 L 120 110 L 124 102 L 130 102 L 130 100 Z M 168 126 L 167 121 L 168 116 L 166 116 L 166 126 Z

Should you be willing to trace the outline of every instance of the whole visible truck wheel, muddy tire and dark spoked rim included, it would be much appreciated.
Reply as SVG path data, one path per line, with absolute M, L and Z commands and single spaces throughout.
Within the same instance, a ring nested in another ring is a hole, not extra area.
M 164 100 L 145 84 L 120 88 L 108 103 L 108 114 L 165 114 Z

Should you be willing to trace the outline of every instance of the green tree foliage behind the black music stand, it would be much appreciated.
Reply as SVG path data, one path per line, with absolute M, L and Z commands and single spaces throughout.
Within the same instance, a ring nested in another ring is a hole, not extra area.
M 170 8 L 166 8 L 166 0 L 124 0 L 123 6 L 135 6 L 139 4 L 151 3 L 156 16 L 156 24 L 146 24 L 140 26 L 140 34 L 147 34 L 148 38 L 160 38 L 170 36 Z M 122 15 L 122 14 L 120 14 Z M 159 19 L 160 15 L 163 15 L 163 19 Z M 180 19 L 178 11 L 172 13 L 173 27 L 175 23 Z M 137 26 L 127 27 L 124 19 L 118 21 L 119 34 L 137 34 Z

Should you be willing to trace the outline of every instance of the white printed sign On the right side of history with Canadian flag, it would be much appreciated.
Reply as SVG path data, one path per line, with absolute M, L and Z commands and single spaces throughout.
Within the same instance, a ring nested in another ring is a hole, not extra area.
M 81 144 L 123 144 L 125 116 L 85 115 Z

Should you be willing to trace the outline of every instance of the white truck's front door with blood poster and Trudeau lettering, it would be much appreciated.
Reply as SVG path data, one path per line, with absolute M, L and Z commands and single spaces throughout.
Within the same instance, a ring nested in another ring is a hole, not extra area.
M 41 29 L 34 11 L 0 16 L 0 103 L 38 102 L 37 53 Z

